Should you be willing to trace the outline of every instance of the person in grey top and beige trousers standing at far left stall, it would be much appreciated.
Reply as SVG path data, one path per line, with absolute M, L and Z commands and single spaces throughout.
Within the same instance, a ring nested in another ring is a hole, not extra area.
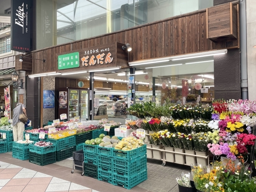
M 22 103 L 17 103 L 13 109 L 13 141 L 24 139 L 23 132 L 25 131 L 25 124 L 19 119 L 21 110 L 27 116 L 26 106 Z

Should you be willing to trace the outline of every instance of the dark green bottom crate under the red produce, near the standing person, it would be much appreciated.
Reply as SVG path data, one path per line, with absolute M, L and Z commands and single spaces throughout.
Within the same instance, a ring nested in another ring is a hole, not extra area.
M 56 152 L 50 152 L 46 154 L 38 154 L 34 152 L 29 152 L 29 162 L 36 165 L 48 165 L 56 162 Z

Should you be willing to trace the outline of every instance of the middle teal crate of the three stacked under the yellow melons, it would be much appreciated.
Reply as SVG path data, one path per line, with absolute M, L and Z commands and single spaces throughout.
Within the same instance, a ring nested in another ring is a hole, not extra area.
M 131 161 L 113 159 L 112 167 L 113 174 L 130 177 L 131 175 L 136 174 L 147 168 L 147 156 L 140 156 Z

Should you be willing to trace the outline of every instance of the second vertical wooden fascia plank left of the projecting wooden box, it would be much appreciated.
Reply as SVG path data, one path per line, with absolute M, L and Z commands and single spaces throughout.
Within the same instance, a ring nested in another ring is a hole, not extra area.
M 198 14 L 186 17 L 186 53 L 198 52 Z

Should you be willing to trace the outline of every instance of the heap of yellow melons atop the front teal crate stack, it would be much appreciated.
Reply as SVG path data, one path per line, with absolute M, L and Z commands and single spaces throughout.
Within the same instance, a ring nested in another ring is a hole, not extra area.
M 123 138 L 117 145 L 115 145 L 114 149 L 119 150 L 133 150 L 138 147 L 142 147 L 144 142 L 142 139 L 136 139 L 134 137 Z

